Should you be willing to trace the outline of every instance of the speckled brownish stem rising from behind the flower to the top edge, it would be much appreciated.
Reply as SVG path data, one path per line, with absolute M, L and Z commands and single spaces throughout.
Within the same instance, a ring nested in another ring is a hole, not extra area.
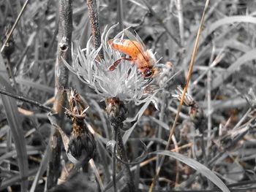
M 94 47 L 97 49 L 101 45 L 101 35 L 99 30 L 99 17 L 97 12 L 97 4 L 95 0 L 87 0 L 87 7 L 91 23 L 91 34 L 94 39 Z M 99 58 L 103 58 L 102 50 L 99 51 Z

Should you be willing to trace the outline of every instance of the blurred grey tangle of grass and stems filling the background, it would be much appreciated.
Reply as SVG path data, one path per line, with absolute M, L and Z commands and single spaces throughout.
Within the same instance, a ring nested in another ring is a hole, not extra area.
M 24 3 L 23 0 L 0 1 L 2 43 Z M 122 29 L 130 27 L 129 31 L 136 31 L 147 48 L 157 52 L 160 63 L 171 62 L 167 63 L 172 71 L 166 74 L 168 78 L 178 72 L 155 95 L 159 110 L 153 104 L 127 106 L 129 118 L 134 118 L 136 114 L 141 116 L 126 144 L 130 161 L 143 151 L 140 140 L 145 142 L 148 152 L 164 150 L 167 145 L 169 128 L 178 106 L 172 94 L 178 85 L 185 85 L 204 6 L 205 1 L 196 0 L 97 1 L 100 31 L 107 25 L 110 27 L 119 23 L 110 34 L 114 37 Z M 29 1 L 2 52 L 0 64 L 0 88 L 49 107 L 53 105 L 55 89 L 58 7 L 58 1 Z M 186 164 L 189 158 L 211 169 L 230 191 L 255 190 L 255 15 L 256 2 L 253 0 L 210 1 L 188 88 L 203 116 L 197 119 L 200 121 L 198 127 L 195 117 L 191 117 L 192 107 L 182 108 L 175 132 L 177 143 L 172 143 L 170 147 L 185 146 L 179 153 L 188 159 L 184 160 L 185 164 L 174 158 L 165 159 L 155 187 L 159 191 L 172 188 L 182 191 L 217 190 L 206 177 Z M 90 36 L 86 1 L 73 1 L 73 46 L 85 47 Z M 94 162 L 106 187 L 111 181 L 113 168 L 105 149 L 106 142 L 112 138 L 105 103 L 72 73 L 69 87 L 75 88 L 89 103 L 86 120 L 97 133 L 94 134 L 97 139 Z M 7 96 L 1 97 L 0 109 L 0 190 L 20 191 L 21 175 L 29 182 L 31 191 L 44 191 L 51 129 L 47 112 L 28 102 L 10 100 Z M 8 122 L 8 114 L 18 118 Z M 70 120 L 66 121 L 66 127 L 67 134 L 70 134 Z M 159 158 L 154 157 L 150 155 L 143 164 L 131 166 L 136 188 L 147 191 L 151 185 L 156 165 L 159 164 Z M 62 169 L 69 169 L 69 164 L 63 150 Z M 119 169 L 120 166 L 117 172 Z M 38 176 L 39 173 L 42 177 Z M 75 186 L 96 185 L 95 178 L 78 177 L 81 179 L 80 182 L 75 180 Z M 34 180 L 37 182 L 32 185 Z M 35 185 L 36 188 L 31 188 Z M 91 191 L 94 189 L 91 188 Z

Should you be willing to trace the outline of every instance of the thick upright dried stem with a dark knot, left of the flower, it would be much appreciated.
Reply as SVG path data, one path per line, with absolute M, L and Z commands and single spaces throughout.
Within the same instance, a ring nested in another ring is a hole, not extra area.
M 71 39 L 72 39 L 72 0 L 59 1 L 59 46 L 58 58 L 56 62 L 56 95 L 62 88 L 67 88 L 68 71 L 64 66 L 62 59 L 71 63 Z M 62 96 L 57 96 L 54 102 L 54 107 L 57 109 L 60 117 L 59 126 L 63 127 L 64 121 L 64 104 L 65 99 Z M 48 161 L 48 182 L 47 188 L 52 188 L 56 185 L 61 173 L 60 155 L 61 155 L 61 135 L 56 128 L 53 128 L 53 133 L 50 139 L 50 158 Z

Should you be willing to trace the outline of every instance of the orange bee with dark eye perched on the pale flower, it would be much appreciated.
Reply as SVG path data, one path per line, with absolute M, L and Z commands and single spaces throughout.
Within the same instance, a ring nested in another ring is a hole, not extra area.
M 115 61 L 115 63 L 110 66 L 110 71 L 116 69 L 116 66 L 124 59 L 132 61 L 133 64 L 137 64 L 138 70 L 142 73 L 144 78 L 148 79 L 154 77 L 154 74 L 157 72 L 157 68 L 154 64 L 156 64 L 157 61 L 151 50 L 146 50 L 144 45 L 130 39 L 110 39 L 108 44 L 113 50 L 129 55 L 129 58 L 122 57 Z

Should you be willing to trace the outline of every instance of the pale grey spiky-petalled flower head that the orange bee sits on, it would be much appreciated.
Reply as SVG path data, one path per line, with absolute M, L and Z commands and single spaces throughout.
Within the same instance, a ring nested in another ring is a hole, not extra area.
M 85 49 L 78 48 L 77 53 L 72 53 L 72 66 L 65 61 L 64 64 L 71 72 L 77 74 L 82 82 L 93 88 L 102 99 L 116 97 L 121 101 L 135 101 L 135 104 L 141 104 L 151 99 L 151 96 L 145 91 L 148 80 L 142 77 L 137 66 L 122 60 L 115 70 L 109 70 L 109 67 L 122 56 L 108 45 L 109 34 L 114 27 L 116 26 L 110 27 L 108 31 L 105 28 L 102 33 L 102 45 L 98 49 L 94 48 L 89 39 Z M 135 37 L 127 29 L 117 34 L 114 39 L 123 38 L 124 35 L 141 42 L 138 36 Z M 99 50 L 103 51 L 104 59 L 97 57 Z

